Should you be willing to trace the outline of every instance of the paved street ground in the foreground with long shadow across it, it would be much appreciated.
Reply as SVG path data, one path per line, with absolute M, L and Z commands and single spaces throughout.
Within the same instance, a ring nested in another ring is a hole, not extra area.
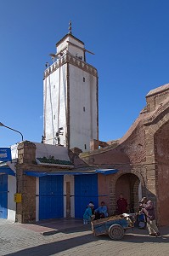
M 169 227 L 161 228 L 161 237 L 149 237 L 147 230 L 128 230 L 121 241 L 113 241 L 109 236 L 93 236 L 90 226 L 73 230 L 42 236 L 24 224 L 0 220 L 0 255 L 169 255 Z

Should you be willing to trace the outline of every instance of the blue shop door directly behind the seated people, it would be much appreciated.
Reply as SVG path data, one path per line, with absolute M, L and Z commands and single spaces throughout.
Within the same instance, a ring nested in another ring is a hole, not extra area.
M 98 175 L 75 176 L 75 218 L 82 218 L 89 201 L 98 207 Z

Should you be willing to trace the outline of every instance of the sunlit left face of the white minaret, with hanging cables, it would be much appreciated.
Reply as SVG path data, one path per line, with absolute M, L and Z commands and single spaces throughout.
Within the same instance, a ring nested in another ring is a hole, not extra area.
M 67 76 L 66 65 L 56 69 L 43 82 L 44 102 L 44 131 L 45 143 L 57 144 L 54 139 L 56 132 L 63 127 L 63 135 L 60 135 L 60 144 L 65 146 L 66 135 L 66 98 L 67 98 Z

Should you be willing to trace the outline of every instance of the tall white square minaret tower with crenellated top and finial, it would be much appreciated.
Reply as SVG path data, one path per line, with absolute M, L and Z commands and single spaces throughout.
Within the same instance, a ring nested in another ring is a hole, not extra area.
M 91 52 L 72 35 L 71 22 L 56 49 L 44 72 L 43 143 L 88 151 L 90 140 L 99 139 L 98 72 L 87 64 Z

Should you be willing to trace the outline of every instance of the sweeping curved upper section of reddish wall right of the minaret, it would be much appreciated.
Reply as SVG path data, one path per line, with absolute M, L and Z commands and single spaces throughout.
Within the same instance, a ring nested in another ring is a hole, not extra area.
M 136 124 L 119 145 L 115 148 L 100 148 L 88 154 L 80 154 L 82 160 L 93 165 L 138 164 L 145 161 L 145 136 L 143 120 L 136 120 Z

